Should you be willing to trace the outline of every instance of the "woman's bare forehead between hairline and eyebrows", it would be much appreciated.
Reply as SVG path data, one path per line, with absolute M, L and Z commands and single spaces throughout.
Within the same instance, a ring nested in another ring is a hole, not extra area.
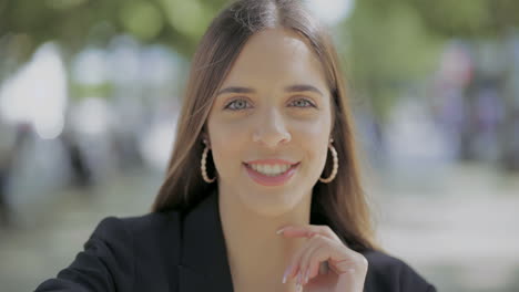
M 325 84 L 319 60 L 294 31 L 267 29 L 246 42 L 224 84 L 273 85 L 301 81 Z

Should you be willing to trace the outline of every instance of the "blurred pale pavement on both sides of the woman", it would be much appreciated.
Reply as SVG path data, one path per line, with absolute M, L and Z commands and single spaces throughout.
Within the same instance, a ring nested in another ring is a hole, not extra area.
M 519 291 L 519 176 L 477 165 L 429 176 L 390 171 L 370 177 L 378 234 L 439 291 Z M 106 216 L 147 211 L 161 175 L 113 175 L 91 190 L 68 189 L 26 206 L 23 228 L 0 230 L 2 292 L 32 291 L 65 268 Z M 27 215 L 26 215 L 27 216 Z

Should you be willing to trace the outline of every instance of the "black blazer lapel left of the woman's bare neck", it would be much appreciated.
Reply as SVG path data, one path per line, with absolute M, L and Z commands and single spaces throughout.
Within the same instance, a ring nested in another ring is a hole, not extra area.
M 213 190 L 183 221 L 179 291 L 233 291 L 227 251 Z

